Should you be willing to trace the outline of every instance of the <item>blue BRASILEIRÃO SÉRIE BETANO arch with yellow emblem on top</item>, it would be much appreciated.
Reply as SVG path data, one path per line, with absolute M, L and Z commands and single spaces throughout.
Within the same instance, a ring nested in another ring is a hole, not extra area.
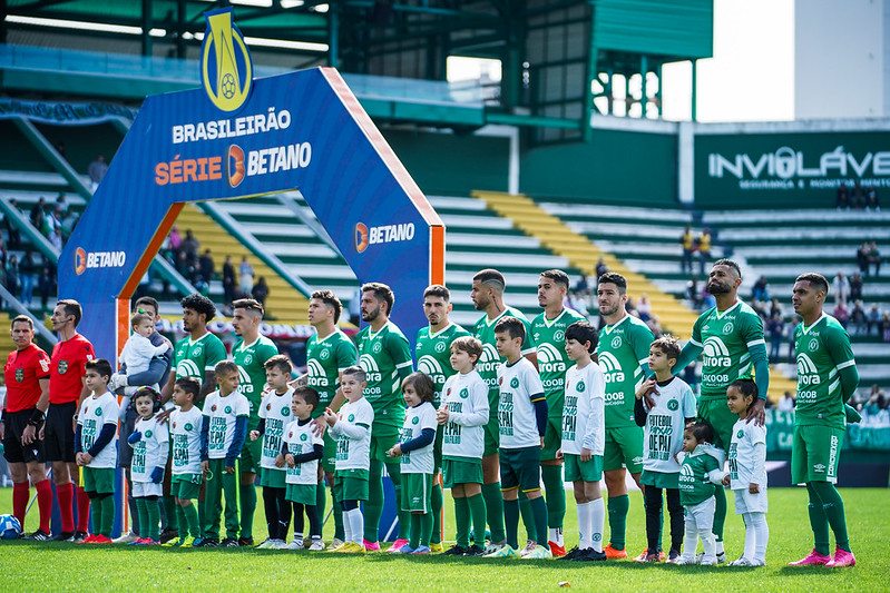
M 299 189 L 360 281 L 419 295 L 444 280 L 444 228 L 340 75 L 252 79 L 231 9 L 207 13 L 204 88 L 148 97 L 59 260 L 99 356 L 184 202 Z M 414 310 L 417 309 L 417 310 Z M 419 307 L 395 307 L 408 335 Z

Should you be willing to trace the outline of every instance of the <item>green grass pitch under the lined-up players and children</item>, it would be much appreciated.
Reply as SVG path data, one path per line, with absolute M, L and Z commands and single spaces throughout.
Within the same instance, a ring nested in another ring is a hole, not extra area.
M 583 591 L 888 591 L 890 555 L 880 550 L 890 530 L 887 490 L 849 488 L 847 507 L 853 569 L 791 569 L 790 561 L 812 547 L 803 490 L 770 491 L 770 546 L 762 569 L 643 565 L 633 561 L 574 563 L 489 561 L 443 556 L 404 557 L 384 553 L 350 556 L 331 553 L 252 550 L 167 550 L 75 544 L 0 543 L 2 590 L 18 591 L 550 591 L 568 583 Z M 577 542 L 570 493 L 566 541 Z M 643 504 L 632 493 L 628 551 L 645 546 Z M 732 511 L 732 496 L 730 496 Z M 450 498 L 446 508 L 451 508 Z M 0 510 L 11 508 L 11 488 L 0 491 Z M 35 511 L 32 511 L 35 512 Z M 450 517 L 450 514 L 448 515 Z M 29 516 L 28 528 L 36 517 Z M 257 535 L 265 532 L 262 504 Z M 325 525 L 330 541 L 332 522 Z M 726 522 L 726 555 L 739 556 L 744 527 L 737 515 Z M 608 527 L 606 528 L 608 532 Z M 446 521 L 446 537 L 453 537 Z M 565 586 L 565 585 L 564 585 Z

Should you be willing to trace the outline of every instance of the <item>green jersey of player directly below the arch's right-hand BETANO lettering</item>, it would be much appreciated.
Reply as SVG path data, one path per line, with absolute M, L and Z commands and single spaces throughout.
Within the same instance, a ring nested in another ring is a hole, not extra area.
M 365 326 L 356 336 L 359 365 L 368 374 L 364 396 L 374 408 L 374 423 L 402 425 L 404 401 L 399 370 L 411 369 L 411 348 L 408 338 L 392 322 L 374 334 Z

